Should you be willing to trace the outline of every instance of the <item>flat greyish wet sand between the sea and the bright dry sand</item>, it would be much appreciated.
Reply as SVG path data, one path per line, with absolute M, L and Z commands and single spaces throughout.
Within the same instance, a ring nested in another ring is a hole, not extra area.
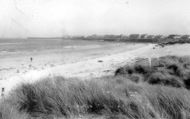
M 88 43 L 88 41 L 84 45 L 82 41 L 81 44 L 65 43 L 62 47 L 51 47 L 38 51 L 28 51 L 28 49 L 16 52 L 2 51 L 0 52 L 0 79 L 6 80 L 15 75 L 25 74 L 31 70 L 44 70 L 68 63 L 76 63 L 130 51 L 142 46 L 145 45 L 109 42 L 106 42 L 105 44 L 101 42 Z

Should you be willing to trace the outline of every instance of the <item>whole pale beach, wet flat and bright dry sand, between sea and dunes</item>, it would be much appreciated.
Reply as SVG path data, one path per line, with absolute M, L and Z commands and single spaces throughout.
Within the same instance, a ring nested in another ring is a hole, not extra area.
M 92 42 L 85 46 L 73 44 L 64 48 L 4 53 L 4 57 L 1 53 L 0 87 L 7 94 L 19 84 L 45 77 L 89 79 L 113 75 L 117 67 L 136 57 L 133 52 L 151 47 L 147 44 Z

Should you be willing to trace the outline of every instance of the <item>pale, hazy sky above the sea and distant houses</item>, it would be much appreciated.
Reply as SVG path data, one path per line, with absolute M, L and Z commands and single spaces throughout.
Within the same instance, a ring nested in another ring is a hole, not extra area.
M 0 0 L 0 37 L 190 34 L 190 0 Z

